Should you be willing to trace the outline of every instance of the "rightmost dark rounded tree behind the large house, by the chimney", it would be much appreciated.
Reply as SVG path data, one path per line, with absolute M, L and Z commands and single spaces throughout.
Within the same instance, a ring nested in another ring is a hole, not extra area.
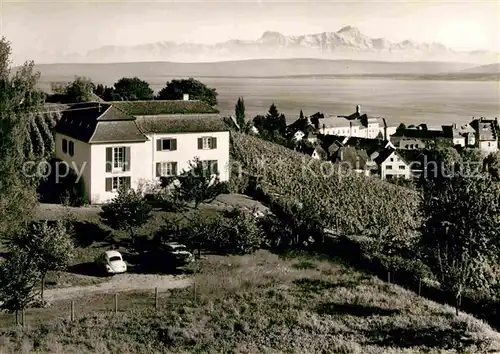
M 217 90 L 193 78 L 167 81 L 166 86 L 158 92 L 157 99 L 181 100 L 185 93 L 189 94 L 190 99 L 206 102 L 212 107 L 217 105 Z

